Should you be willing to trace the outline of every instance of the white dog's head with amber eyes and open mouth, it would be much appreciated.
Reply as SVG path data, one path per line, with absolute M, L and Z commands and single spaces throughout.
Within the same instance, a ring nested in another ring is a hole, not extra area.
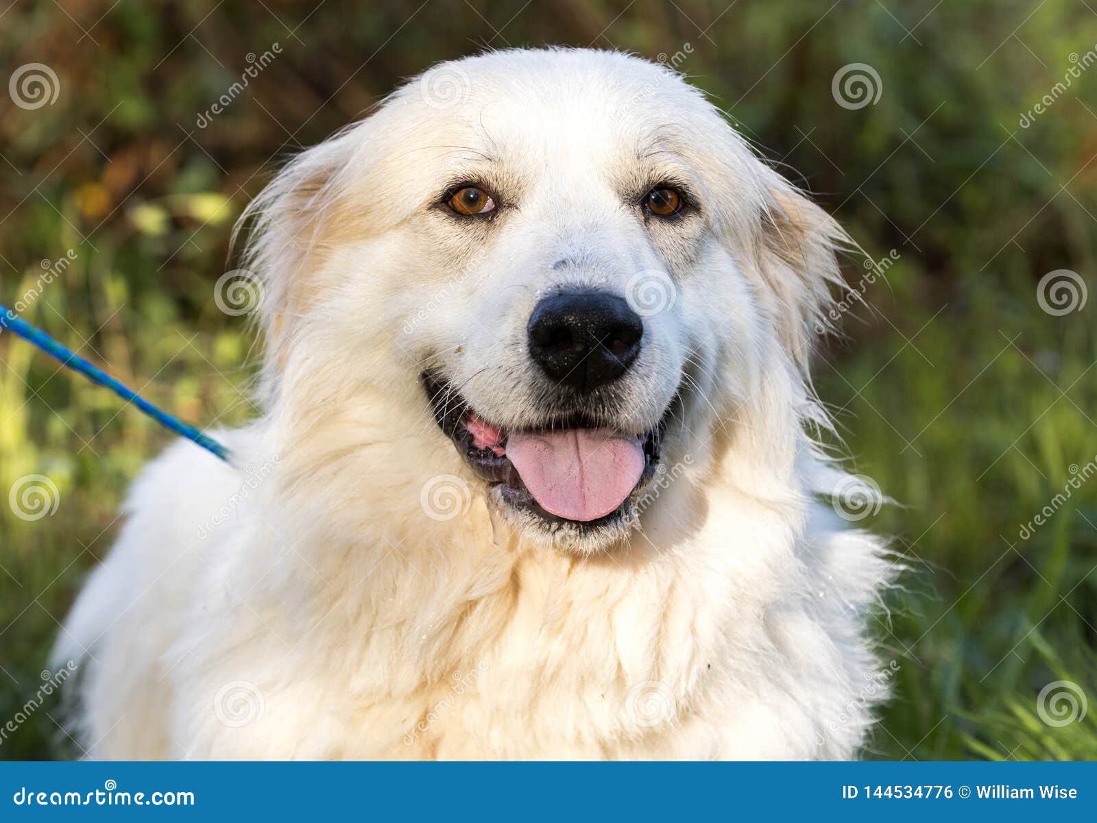
M 252 213 L 271 402 L 333 482 L 418 507 L 453 476 L 508 527 L 592 550 L 740 432 L 754 471 L 789 470 L 844 236 L 663 66 L 442 64 Z

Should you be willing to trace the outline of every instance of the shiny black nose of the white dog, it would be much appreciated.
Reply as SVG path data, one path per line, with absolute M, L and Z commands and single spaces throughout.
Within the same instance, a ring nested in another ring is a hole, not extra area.
M 586 392 L 612 382 L 632 365 L 644 321 L 624 298 L 565 292 L 534 307 L 528 331 L 530 355 L 545 374 Z

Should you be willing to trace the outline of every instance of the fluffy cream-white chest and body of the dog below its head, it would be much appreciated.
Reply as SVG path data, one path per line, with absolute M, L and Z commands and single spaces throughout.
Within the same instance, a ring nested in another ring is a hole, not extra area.
M 822 510 L 709 489 L 723 505 L 674 551 L 655 522 L 578 558 L 496 542 L 474 508 L 449 541 L 340 542 L 314 521 L 309 544 L 260 489 L 214 540 L 126 539 L 208 523 L 246 488 L 177 448 L 136 490 L 92 581 L 136 604 L 89 663 L 97 755 L 848 757 L 886 694 L 862 637 L 886 565 Z M 685 476 L 664 494 L 705 506 Z M 83 611 L 90 643 L 105 615 Z

